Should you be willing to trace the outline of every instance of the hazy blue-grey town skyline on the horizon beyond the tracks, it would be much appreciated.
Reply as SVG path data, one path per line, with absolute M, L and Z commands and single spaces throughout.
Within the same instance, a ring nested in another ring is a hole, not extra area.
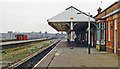
M 16 39 L 15 35 L 17 34 L 26 34 L 27 39 L 43 39 L 43 38 L 60 38 L 61 35 L 56 36 L 56 34 L 53 33 L 42 33 L 42 32 L 30 32 L 30 33 L 20 33 L 20 32 L 9 32 L 9 33 L 0 33 L 0 38 L 6 38 L 6 39 Z M 66 34 L 63 34 L 65 37 Z

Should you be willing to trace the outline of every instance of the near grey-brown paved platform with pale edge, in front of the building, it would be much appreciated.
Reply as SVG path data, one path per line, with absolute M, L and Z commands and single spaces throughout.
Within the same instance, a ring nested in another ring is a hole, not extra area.
M 100 52 L 93 47 L 91 48 L 91 54 L 88 54 L 87 46 L 75 45 L 73 45 L 73 49 L 70 49 L 66 40 L 60 41 L 33 69 L 39 69 L 40 67 L 47 69 L 54 67 L 81 67 L 85 69 L 89 69 L 89 67 L 106 69 L 104 67 L 109 67 L 109 69 L 118 69 L 118 56 L 116 54 Z

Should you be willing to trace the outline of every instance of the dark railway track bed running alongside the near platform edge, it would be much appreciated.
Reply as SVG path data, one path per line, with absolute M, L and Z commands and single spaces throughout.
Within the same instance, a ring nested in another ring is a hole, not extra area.
M 42 52 L 28 59 L 27 61 L 21 62 L 18 65 L 12 65 L 8 68 L 10 69 L 23 69 L 23 68 L 32 69 L 34 65 L 37 64 L 47 53 L 49 53 L 59 42 L 60 40 L 52 43 L 47 49 L 43 50 Z

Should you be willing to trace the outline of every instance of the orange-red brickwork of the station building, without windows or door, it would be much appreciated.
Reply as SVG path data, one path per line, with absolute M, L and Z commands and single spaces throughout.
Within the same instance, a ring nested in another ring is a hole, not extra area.
M 112 11 L 118 9 L 120 7 L 120 2 L 115 4 L 106 10 L 106 14 L 111 13 Z M 105 11 L 95 17 L 95 19 L 99 19 L 105 15 Z M 108 21 L 110 21 L 110 42 L 108 42 Z M 113 16 L 106 18 L 106 50 L 109 52 L 114 52 L 114 19 Z M 120 13 L 117 14 L 117 48 L 120 48 Z M 117 50 L 117 54 L 119 51 Z

